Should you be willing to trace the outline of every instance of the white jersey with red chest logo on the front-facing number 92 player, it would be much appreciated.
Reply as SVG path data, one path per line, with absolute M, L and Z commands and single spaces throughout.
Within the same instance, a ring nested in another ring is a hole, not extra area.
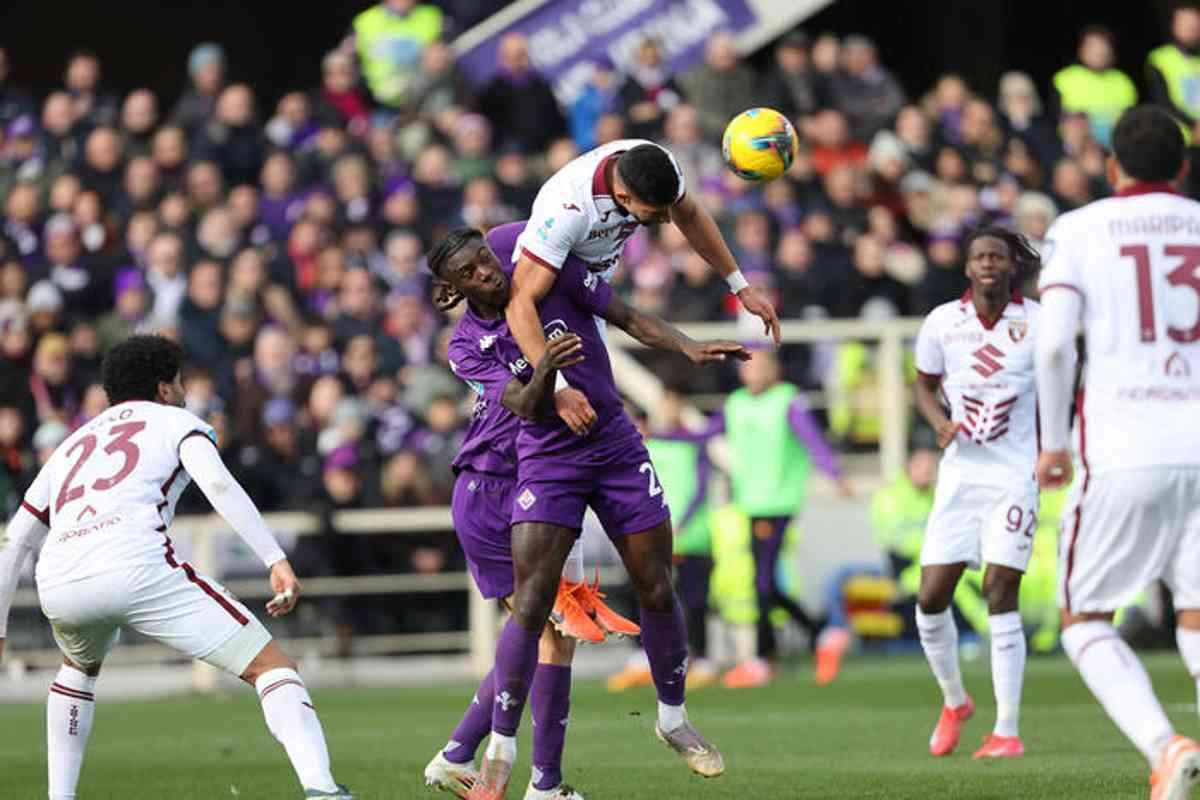
M 917 335 L 917 369 L 942 377 L 942 397 L 959 433 L 942 456 L 940 480 L 1020 487 L 1038 457 L 1033 342 L 1040 306 L 1014 295 L 991 326 L 971 291 L 929 313 Z

